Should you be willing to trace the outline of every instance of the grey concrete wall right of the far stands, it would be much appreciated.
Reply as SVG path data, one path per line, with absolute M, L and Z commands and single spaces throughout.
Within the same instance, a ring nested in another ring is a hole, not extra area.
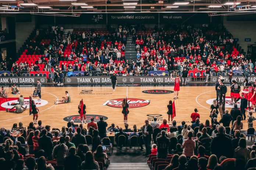
M 256 21 L 227 21 L 227 16 L 223 18 L 223 24 L 229 32 L 233 35 L 233 38 L 239 38 L 238 44 L 247 53 L 247 46 L 255 44 L 256 34 L 255 26 Z M 245 42 L 245 38 L 251 38 L 250 42 Z

